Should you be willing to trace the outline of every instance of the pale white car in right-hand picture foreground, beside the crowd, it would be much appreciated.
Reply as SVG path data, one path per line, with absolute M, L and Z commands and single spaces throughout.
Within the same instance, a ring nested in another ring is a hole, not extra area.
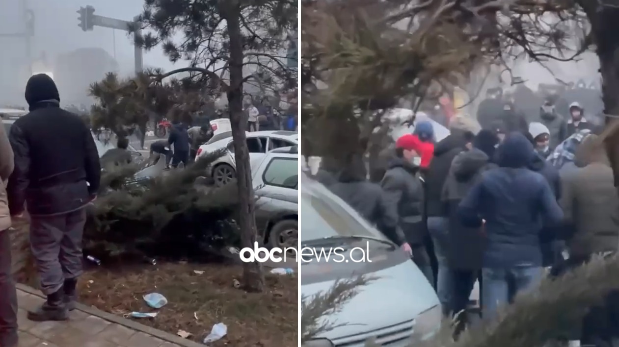
M 339 280 L 360 275 L 375 278 L 356 288 L 357 294 L 339 311 L 321 317 L 319 324 L 331 322 L 335 327 L 319 333 L 306 346 L 363 347 L 366 340 L 375 339 L 377 346 L 405 347 L 435 335 L 441 324 L 441 307 L 417 265 L 329 189 L 305 174 L 301 180 L 301 247 L 326 252 L 342 247 L 347 251 L 340 253 L 345 261 L 335 261 L 337 257 L 328 261 L 324 257 L 302 259 L 302 296 L 311 300 Z M 353 257 L 353 247 L 367 250 L 365 259 L 370 262 L 357 262 L 361 255 L 357 252 Z

